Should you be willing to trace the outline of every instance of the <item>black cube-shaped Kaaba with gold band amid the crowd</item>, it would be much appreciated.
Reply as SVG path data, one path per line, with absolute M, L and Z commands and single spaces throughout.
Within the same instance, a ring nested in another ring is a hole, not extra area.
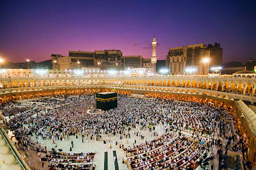
M 96 93 L 96 107 L 104 111 L 117 107 L 117 93 L 102 92 Z

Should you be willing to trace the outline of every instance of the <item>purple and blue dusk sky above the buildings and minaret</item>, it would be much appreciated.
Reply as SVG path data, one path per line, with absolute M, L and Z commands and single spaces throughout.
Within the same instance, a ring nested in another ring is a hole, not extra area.
M 0 1 L 0 56 L 24 62 L 68 50 L 157 57 L 170 47 L 221 43 L 223 63 L 256 57 L 255 1 Z M 255 58 L 256 59 L 256 58 Z

